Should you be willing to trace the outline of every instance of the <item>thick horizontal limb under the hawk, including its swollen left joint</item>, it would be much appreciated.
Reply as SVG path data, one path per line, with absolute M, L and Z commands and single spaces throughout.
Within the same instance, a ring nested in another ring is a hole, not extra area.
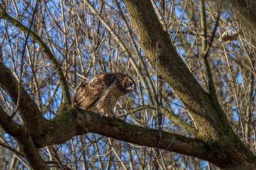
M 37 146 L 61 144 L 75 135 L 82 135 L 86 132 L 97 133 L 146 147 L 157 146 L 159 130 L 131 125 L 122 120 L 115 120 L 97 113 L 70 108 L 68 105 L 60 107 L 59 117 L 49 120 L 48 125 L 45 126 L 44 136 L 35 137 L 34 142 Z M 160 149 L 208 159 L 205 149 L 207 145 L 198 138 L 185 137 L 171 132 L 162 132 L 161 137 Z M 171 143 L 172 140 L 174 142 Z

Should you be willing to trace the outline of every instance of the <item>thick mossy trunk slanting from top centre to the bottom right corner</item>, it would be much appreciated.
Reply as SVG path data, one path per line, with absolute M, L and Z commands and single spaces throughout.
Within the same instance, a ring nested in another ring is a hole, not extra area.
M 171 86 L 196 123 L 197 137 L 207 144 L 208 160 L 222 169 L 256 169 L 255 156 L 233 132 L 218 99 L 201 88 L 178 56 L 151 2 L 125 0 L 125 4 L 139 44 L 155 65 L 156 45 L 159 44 L 159 74 Z

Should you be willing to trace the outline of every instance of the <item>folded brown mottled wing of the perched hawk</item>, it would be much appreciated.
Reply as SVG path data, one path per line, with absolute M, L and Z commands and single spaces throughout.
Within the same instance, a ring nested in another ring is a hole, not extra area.
M 94 106 L 115 79 L 115 74 L 102 73 L 83 83 L 73 97 L 75 106 L 86 110 Z

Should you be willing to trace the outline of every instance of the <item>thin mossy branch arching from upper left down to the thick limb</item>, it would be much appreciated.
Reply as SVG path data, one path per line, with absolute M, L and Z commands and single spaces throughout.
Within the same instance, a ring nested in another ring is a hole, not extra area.
M 22 23 L 20 23 L 16 19 L 12 18 L 11 16 L 9 16 L 5 12 L 3 5 L 1 5 L 0 7 L 1 7 L 0 8 L 0 18 L 3 18 L 6 21 L 9 21 L 14 26 L 16 26 L 18 29 L 22 30 L 25 33 L 28 33 L 28 28 L 26 26 L 23 26 Z M 61 91 L 64 96 L 64 101 L 71 103 L 71 97 L 70 97 L 70 92 L 69 92 L 69 88 L 68 88 L 68 83 L 67 83 L 65 76 L 63 74 L 63 71 L 62 71 L 61 67 L 58 65 L 58 61 L 55 59 L 53 53 L 50 51 L 50 49 L 48 48 L 46 43 L 43 42 L 43 40 L 36 33 L 34 33 L 33 31 L 30 31 L 29 36 L 33 40 L 35 40 L 38 43 L 38 45 L 41 47 L 43 52 L 46 53 L 46 57 L 50 61 L 51 67 L 53 67 L 53 69 L 55 70 L 55 72 L 58 76 L 58 80 L 60 81 L 60 88 L 61 88 Z

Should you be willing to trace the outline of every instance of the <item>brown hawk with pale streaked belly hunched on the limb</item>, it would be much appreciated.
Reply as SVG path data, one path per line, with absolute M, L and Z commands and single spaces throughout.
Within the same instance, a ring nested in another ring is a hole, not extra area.
M 106 116 L 113 113 L 120 96 L 134 91 L 133 79 L 122 73 L 101 73 L 83 83 L 73 97 L 75 106 Z

